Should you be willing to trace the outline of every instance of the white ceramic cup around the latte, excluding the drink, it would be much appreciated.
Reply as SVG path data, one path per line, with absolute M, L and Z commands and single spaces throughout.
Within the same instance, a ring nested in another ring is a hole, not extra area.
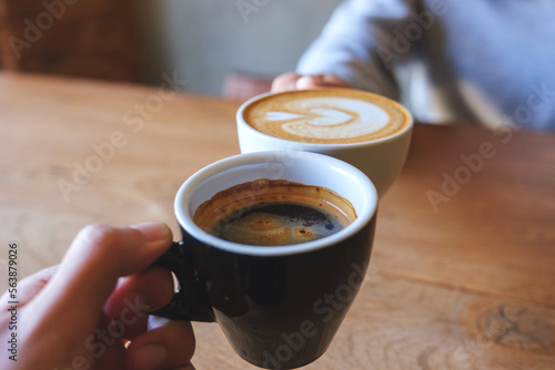
M 326 91 L 330 96 L 334 96 L 337 92 L 347 92 L 349 89 L 319 89 Z M 262 133 L 251 126 L 244 116 L 245 109 L 260 100 L 278 94 L 302 94 L 306 91 L 290 91 L 282 93 L 265 93 L 254 96 L 244 102 L 236 113 L 238 135 L 241 153 L 252 153 L 262 151 L 303 151 L 325 154 L 344 162 L 347 162 L 359 169 L 374 183 L 380 197 L 391 187 L 406 160 L 408 146 L 411 143 L 413 119 L 411 114 L 401 104 L 385 99 L 383 96 L 355 91 L 357 95 L 367 96 L 369 101 L 379 99 L 392 104 L 405 117 L 406 123 L 403 127 L 386 137 L 371 140 L 359 143 L 306 143 L 291 140 L 284 140 Z M 383 112 L 381 112 L 383 114 Z M 370 113 L 369 115 L 372 115 Z

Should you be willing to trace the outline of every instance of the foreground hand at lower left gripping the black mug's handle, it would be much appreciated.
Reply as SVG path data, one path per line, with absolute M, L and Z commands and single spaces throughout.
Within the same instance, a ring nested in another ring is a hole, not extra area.
M 171 239 L 158 223 L 81 230 L 61 265 L 19 282 L 17 305 L 2 296 L 0 339 L 9 343 L 17 330 L 17 346 L 3 351 L 0 368 L 193 369 L 190 322 L 147 314 L 173 294 L 168 270 L 148 268 Z

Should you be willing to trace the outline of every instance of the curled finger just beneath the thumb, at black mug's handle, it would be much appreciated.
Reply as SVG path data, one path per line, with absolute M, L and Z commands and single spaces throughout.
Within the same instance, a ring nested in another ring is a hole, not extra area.
M 121 322 L 124 337 L 131 339 L 147 330 L 147 312 L 168 305 L 173 294 L 170 270 L 151 267 L 121 278 L 103 311 L 111 319 Z

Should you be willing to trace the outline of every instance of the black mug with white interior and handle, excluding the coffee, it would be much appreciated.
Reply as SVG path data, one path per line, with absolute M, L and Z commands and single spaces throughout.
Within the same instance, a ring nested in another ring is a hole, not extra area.
M 226 241 L 193 222 L 214 194 L 258 178 L 324 186 L 346 198 L 356 219 L 336 234 L 289 246 Z M 305 152 L 260 152 L 216 162 L 191 176 L 175 197 L 182 240 L 157 264 L 175 274 L 173 300 L 153 312 L 215 321 L 246 361 L 294 369 L 322 356 L 364 280 L 374 238 L 377 193 L 352 165 Z

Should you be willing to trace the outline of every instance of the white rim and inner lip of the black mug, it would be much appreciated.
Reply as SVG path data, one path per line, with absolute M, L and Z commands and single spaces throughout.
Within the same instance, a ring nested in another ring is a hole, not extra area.
M 295 255 L 295 254 L 323 249 L 355 235 L 362 228 L 366 227 L 366 225 L 375 216 L 379 202 L 377 192 L 373 183 L 370 181 L 370 178 L 353 165 L 333 158 L 331 156 L 310 153 L 310 152 L 297 152 L 297 153 L 302 153 L 303 161 L 310 161 L 311 164 L 315 164 L 316 166 L 325 164 L 326 169 L 333 172 L 333 174 L 330 174 L 330 176 L 333 175 L 344 176 L 345 181 L 352 182 L 353 187 L 360 187 L 361 196 L 363 198 L 360 201 L 357 199 L 357 202 L 364 202 L 364 204 L 360 205 L 361 212 L 357 212 L 357 218 L 344 229 L 325 238 L 313 241 L 307 241 L 296 245 L 287 245 L 287 246 L 260 247 L 260 246 L 251 246 L 251 245 L 244 245 L 220 239 L 209 234 L 208 232 L 204 232 L 193 222 L 192 213 L 194 212 L 194 209 L 192 209 L 193 207 L 191 204 L 191 198 L 194 197 L 194 192 L 199 186 L 201 186 L 203 183 L 205 184 L 211 178 L 218 177 L 220 174 L 232 173 L 233 168 L 238 167 L 248 168 L 249 166 L 264 165 L 265 163 L 268 163 L 269 157 L 275 157 L 278 158 L 278 161 L 281 161 L 278 163 L 283 163 L 285 158 L 291 160 L 291 152 L 286 151 L 239 154 L 218 161 L 198 171 L 181 185 L 175 196 L 174 212 L 179 224 L 189 235 L 194 237 L 196 240 L 210 245 L 212 247 L 234 254 L 266 256 L 266 257 Z M 292 166 L 294 165 L 295 164 L 293 164 Z M 251 178 L 251 181 L 252 179 L 255 178 Z M 285 178 L 285 179 L 291 179 L 291 178 Z M 311 185 L 321 185 L 321 184 L 311 184 Z M 233 185 L 230 184 L 226 186 L 222 186 L 220 191 L 223 191 L 231 186 Z

